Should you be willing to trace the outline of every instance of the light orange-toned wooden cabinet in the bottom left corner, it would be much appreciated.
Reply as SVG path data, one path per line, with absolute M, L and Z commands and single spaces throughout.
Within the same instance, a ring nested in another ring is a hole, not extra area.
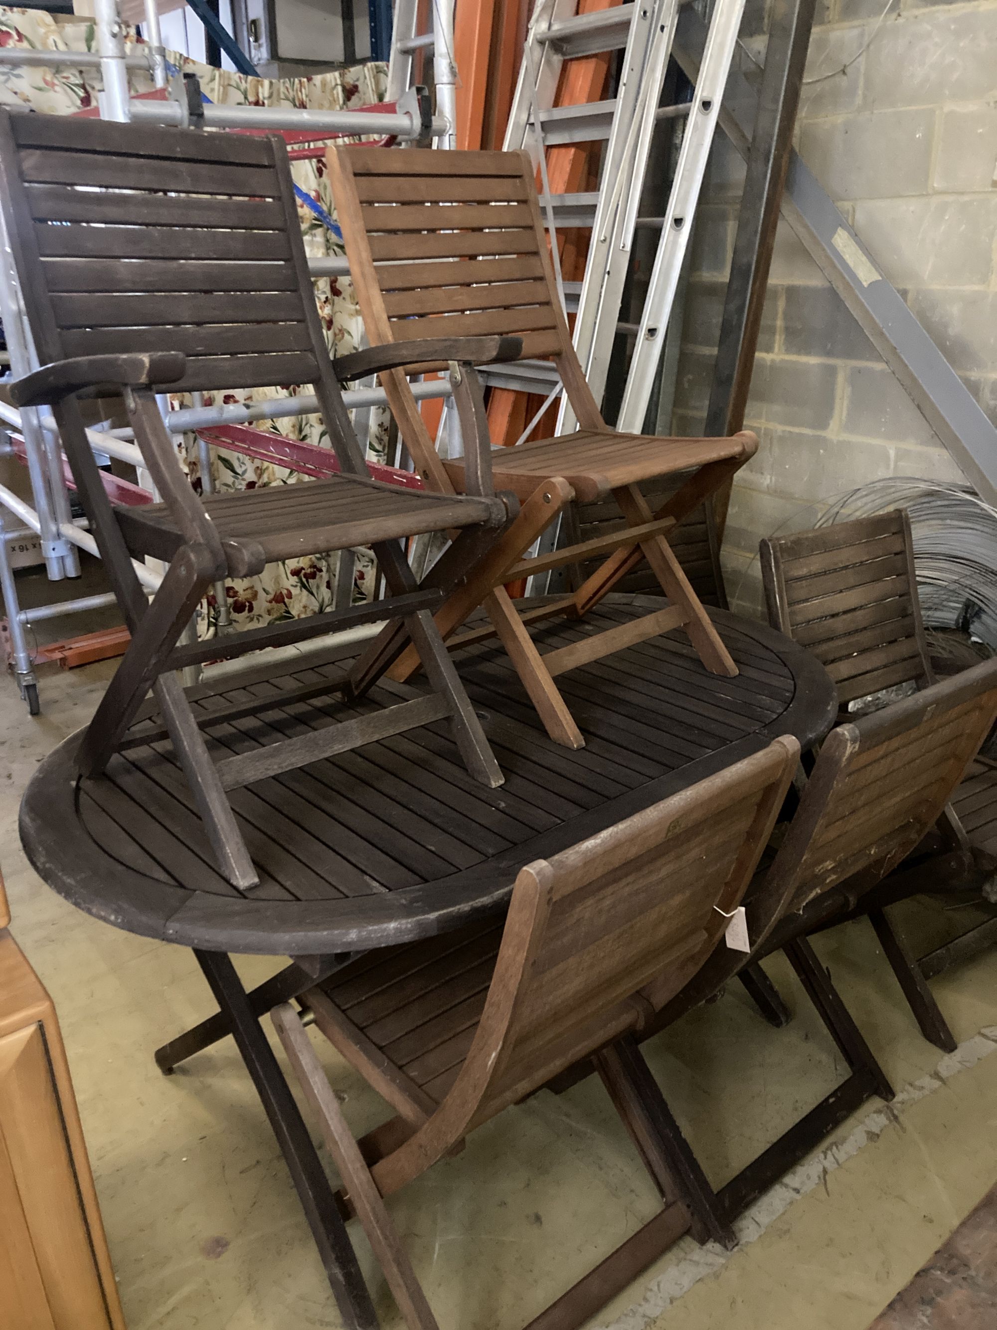
M 0 1326 L 125 1330 L 52 1001 L 0 882 Z

